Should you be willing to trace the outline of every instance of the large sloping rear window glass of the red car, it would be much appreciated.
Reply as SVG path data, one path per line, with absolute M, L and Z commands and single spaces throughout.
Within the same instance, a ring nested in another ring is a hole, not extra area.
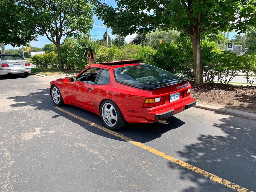
M 190 80 L 152 65 L 119 67 L 115 69 L 115 77 L 119 82 L 144 88 Z

